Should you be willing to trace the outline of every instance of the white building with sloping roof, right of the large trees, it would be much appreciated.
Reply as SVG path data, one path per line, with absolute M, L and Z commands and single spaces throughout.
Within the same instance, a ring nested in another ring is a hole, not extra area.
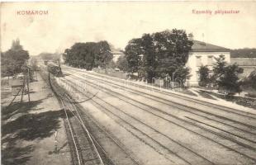
M 207 65 L 212 72 L 215 58 L 224 56 L 227 63 L 230 63 L 230 50 L 217 45 L 211 45 L 198 40 L 193 40 L 192 50 L 188 54 L 186 66 L 191 68 L 192 77 L 187 80 L 187 86 L 197 86 L 199 82 L 199 68 Z

